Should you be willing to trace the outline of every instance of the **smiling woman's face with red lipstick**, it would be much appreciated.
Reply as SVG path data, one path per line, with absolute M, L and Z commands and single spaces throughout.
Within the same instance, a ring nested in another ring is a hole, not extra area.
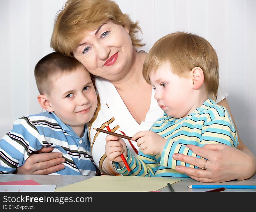
M 93 31 L 84 32 L 84 38 L 73 54 L 93 75 L 108 80 L 121 79 L 127 75 L 132 63 L 129 30 L 107 21 Z

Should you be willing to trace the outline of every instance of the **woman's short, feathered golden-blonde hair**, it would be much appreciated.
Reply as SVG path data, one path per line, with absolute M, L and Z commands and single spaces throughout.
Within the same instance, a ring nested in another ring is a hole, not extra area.
M 142 39 L 137 38 L 137 33 L 141 31 L 138 22 L 132 22 L 114 1 L 68 0 L 56 14 L 51 47 L 65 55 L 73 55 L 72 52 L 83 39 L 83 32 L 95 30 L 107 20 L 129 29 L 134 48 L 145 46 L 141 44 Z

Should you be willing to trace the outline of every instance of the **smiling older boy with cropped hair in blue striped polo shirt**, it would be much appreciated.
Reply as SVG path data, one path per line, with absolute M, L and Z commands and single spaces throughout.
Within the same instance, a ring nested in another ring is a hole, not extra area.
M 75 58 L 53 52 L 35 66 L 38 102 L 47 112 L 23 116 L 0 141 L 0 173 L 15 173 L 31 153 L 54 147 L 65 159 L 58 175 L 96 175 L 85 123 L 97 96 L 90 73 Z

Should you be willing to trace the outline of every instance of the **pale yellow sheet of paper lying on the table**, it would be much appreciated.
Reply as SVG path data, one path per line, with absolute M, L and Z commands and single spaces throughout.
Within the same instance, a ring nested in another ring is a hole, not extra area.
M 55 191 L 156 191 L 180 180 L 163 177 L 96 176 Z

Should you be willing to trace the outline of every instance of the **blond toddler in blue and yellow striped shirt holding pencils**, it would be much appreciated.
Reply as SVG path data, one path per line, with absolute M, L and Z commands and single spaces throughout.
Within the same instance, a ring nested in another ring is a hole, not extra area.
M 145 59 L 143 77 L 155 89 L 155 99 L 164 114 L 151 131 L 141 131 L 132 137 L 138 139 L 137 157 L 122 139 L 106 137 L 107 157 L 115 161 L 113 166 L 120 174 L 188 177 L 177 172 L 175 166 L 191 165 L 172 159 L 174 153 L 200 157 L 186 144 L 202 147 L 207 143 L 224 143 L 237 147 L 237 132 L 227 109 L 212 99 L 219 84 L 218 57 L 206 39 L 185 32 L 159 39 Z M 122 164 L 121 152 L 127 155 L 130 172 Z M 200 168 L 206 169 L 206 163 L 207 160 Z

